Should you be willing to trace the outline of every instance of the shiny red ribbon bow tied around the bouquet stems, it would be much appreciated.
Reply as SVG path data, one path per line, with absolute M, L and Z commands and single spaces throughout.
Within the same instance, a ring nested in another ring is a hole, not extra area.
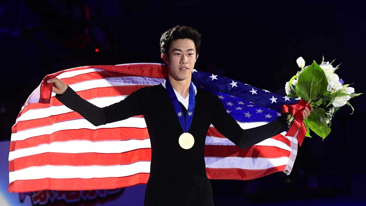
M 292 123 L 292 126 L 286 133 L 286 136 L 295 136 L 296 132 L 300 128 L 299 133 L 296 136 L 300 147 L 307 132 L 304 121 L 302 120 L 302 113 L 305 110 L 305 107 L 308 107 L 311 110 L 309 103 L 305 102 L 304 100 L 300 100 L 298 103 L 295 104 L 283 104 L 281 106 L 282 113 L 289 112 L 292 116 L 295 115 L 295 121 L 294 123 Z

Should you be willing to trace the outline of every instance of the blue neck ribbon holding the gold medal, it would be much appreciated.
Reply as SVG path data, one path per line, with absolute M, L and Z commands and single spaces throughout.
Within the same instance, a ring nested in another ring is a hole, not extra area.
M 178 117 L 180 126 L 182 126 L 182 129 L 184 132 L 188 132 L 189 128 L 191 127 L 191 123 L 192 123 L 193 112 L 194 112 L 194 100 L 195 100 L 192 81 L 189 86 L 189 100 L 188 100 L 188 110 L 187 110 L 186 118 L 184 118 L 184 116 L 183 116 L 182 107 L 180 107 L 178 98 L 173 90 L 172 85 L 169 82 L 169 79 L 166 80 L 165 87 L 167 88 L 168 95 L 169 95 L 170 99 L 172 100 L 173 107 L 175 109 L 175 114 Z

